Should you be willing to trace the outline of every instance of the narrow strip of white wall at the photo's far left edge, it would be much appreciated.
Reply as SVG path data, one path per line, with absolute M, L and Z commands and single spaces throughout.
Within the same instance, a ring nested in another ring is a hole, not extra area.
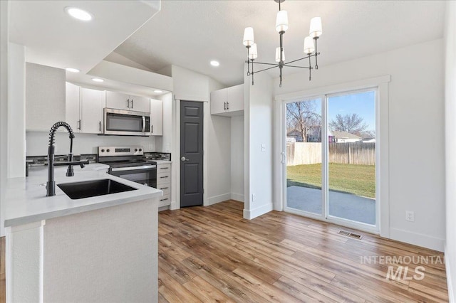
M 5 235 L 4 194 L 8 165 L 8 27 L 9 1 L 0 1 L 0 237 Z

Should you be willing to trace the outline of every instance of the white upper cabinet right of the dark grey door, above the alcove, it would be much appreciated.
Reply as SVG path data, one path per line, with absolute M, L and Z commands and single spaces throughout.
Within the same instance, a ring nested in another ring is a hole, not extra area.
M 235 85 L 211 92 L 211 115 L 244 115 L 244 85 Z

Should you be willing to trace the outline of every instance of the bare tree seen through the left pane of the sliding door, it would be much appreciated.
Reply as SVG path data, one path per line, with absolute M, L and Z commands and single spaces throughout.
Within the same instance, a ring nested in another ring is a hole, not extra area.
M 286 105 L 287 131 L 296 129 L 301 132 L 302 139 L 306 142 L 309 127 L 321 125 L 321 115 L 316 109 L 316 100 L 288 103 Z

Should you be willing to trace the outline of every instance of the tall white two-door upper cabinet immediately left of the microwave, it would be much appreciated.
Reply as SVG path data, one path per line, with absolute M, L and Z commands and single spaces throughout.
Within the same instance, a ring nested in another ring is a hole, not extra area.
M 103 90 L 66 83 L 65 121 L 73 132 L 103 133 Z

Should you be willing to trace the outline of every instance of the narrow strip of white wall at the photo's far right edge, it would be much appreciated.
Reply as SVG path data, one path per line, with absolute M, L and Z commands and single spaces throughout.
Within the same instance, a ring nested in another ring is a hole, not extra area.
M 447 200 L 447 282 L 456 300 L 456 1 L 447 2 L 445 20 L 445 159 Z

